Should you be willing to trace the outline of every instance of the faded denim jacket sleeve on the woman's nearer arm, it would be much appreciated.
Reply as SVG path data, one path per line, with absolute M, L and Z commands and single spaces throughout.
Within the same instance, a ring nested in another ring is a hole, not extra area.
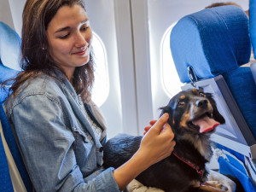
M 47 95 L 26 96 L 11 113 L 36 191 L 119 191 L 111 168 L 84 181 L 74 153 L 73 131 L 65 120 L 61 102 Z

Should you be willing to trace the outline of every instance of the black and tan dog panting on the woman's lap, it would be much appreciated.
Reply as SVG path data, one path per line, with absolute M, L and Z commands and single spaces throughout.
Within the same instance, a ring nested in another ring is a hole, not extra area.
M 215 127 L 224 124 L 211 94 L 201 90 L 183 90 L 161 108 L 169 113 L 176 146 L 172 154 L 137 176 L 145 186 L 166 192 L 209 191 L 200 187 L 207 180 L 206 163 L 212 157 L 209 137 Z M 142 137 L 113 137 L 103 146 L 104 166 L 117 168 L 139 148 Z M 210 190 L 211 191 L 211 190 Z

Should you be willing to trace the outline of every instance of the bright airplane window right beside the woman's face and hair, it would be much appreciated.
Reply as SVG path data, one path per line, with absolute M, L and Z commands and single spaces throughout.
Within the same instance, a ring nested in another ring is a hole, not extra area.
M 105 46 L 101 38 L 93 32 L 92 47 L 95 54 L 95 82 L 92 88 L 92 101 L 98 107 L 106 102 L 109 93 L 108 61 Z

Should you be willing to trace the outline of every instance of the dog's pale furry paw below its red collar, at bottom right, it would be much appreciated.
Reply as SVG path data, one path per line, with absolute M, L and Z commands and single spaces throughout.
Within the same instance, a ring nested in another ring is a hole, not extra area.
M 207 183 L 211 184 L 212 186 L 217 186 L 219 188 L 222 185 L 222 189 L 225 189 L 227 192 L 235 192 L 236 191 L 236 183 L 234 183 L 229 177 L 225 177 L 224 175 L 214 172 L 212 170 L 209 171 L 209 175 L 207 178 Z

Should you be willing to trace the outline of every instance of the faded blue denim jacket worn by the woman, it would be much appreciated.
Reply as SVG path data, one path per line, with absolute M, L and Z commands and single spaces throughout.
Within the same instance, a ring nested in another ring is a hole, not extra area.
M 3 107 L 36 191 L 119 191 L 72 84 L 41 73 L 19 90 Z

